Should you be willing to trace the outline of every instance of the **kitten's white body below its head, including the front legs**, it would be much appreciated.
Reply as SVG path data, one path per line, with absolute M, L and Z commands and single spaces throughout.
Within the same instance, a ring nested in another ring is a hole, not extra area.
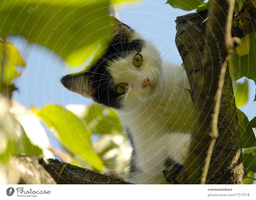
M 166 183 L 163 170 L 172 160 L 172 164 L 183 163 L 188 153 L 190 135 L 185 133 L 194 115 L 190 94 L 184 89 L 189 88 L 187 76 L 182 66 L 166 63 L 163 67 L 168 78 L 155 97 L 117 110 L 123 124 L 129 124 L 126 130 L 133 130 L 128 133 L 133 148 L 130 182 Z

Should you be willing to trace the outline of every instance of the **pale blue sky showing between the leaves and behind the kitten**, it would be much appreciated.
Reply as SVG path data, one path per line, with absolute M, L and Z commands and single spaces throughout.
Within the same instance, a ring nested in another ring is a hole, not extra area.
M 165 2 L 165 0 L 146 0 L 142 3 L 138 1 L 124 3 L 116 6 L 116 12 L 121 21 L 153 41 L 164 60 L 182 63 L 174 42 L 176 34 L 174 20 L 177 16 L 189 12 L 173 9 Z M 90 103 L 90 100 L 69 92 L 60 84 L 59 79 L 74 70 L 65 70 L 65 62 L 58 55 L 43 46 L 29 44 L 23 37 L 12 37 L 10 41 L 20 50 L 27 66 L 22 76 L 15 80 L 19 89 L 15 94 L 18 102 L 27 108 L 32 106 L 41 108 L 47 104 L 64 106 Z M 249 85 L 249 96 L 251 95 L 253 100 L 255 94 L 253 81 L 249 81 Z M 256 116 L 256 102 L 252 100 L 240 108 L 249 120 Z

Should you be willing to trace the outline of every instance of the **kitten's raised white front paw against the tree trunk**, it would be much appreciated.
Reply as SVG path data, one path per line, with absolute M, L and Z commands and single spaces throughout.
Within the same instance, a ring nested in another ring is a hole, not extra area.
M 180 140 L 177 141 L 176 146 L 173 147 L 173 150 L 170 153 L 170 156 L 176 161 L 178 161 L 179 163 L 183 164 L 184 160 L 188 156 L 190 141 L 191 141 L 190 135 L 184 135 L 183 137 L 180 137 Z

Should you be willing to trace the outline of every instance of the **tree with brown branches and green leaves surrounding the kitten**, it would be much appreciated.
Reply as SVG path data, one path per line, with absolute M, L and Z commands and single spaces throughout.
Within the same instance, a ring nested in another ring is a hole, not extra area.
M 3 145 L 0 148 L 0 161 L 2 165 L 11 166 L 9 171 L 5 169 L 2 172 L 4 174 L 8 171 L 7 175 L 2 175 L 4 181 L 17 183 L 20 180 L 31 184 L 127 183 L 98 174 L 106 166 L 102 162 L 102 153 L 92 149 L 91 134 L 104 136 L 115 132 L 121 136 L 122 124 L 113 111 L 96 105 L 84 110 L 82 115 L 56 105 L 45 106 L 41 110 L 26 110 L 12 101 L 15 86 L 11 80 L 19 76 L 14 67 L 25 66 L 18 50 L 8 42 L 9 35 L 14 31 L 25 36 L 29 42 L 52 49 L 70 65 L 83 63 L 93 56 L 88 64 L 90 67 L 104 53 L 111 30 L 108 9 L 111 1 L 73 1 L 72 4 L 65 1 L 52 2 L 48 0 L 36 3 L 31 0 L 27 3 L 19 0 L 14 6 L 1 3 L 0 24 L 3 26 L 0 36 L 3 41 L 0 104 L 3 112 L 0 115 L 0 128 Z M 243 92 L 248 90 L 248 85 L 239 84 L 236 80 L 247 77 L 256 83 L 254 1 L 210 0 L 204 3 L 186 0 L 167 3 L 173 8 L 197 9 L 196 13 L 177 17 L 175 39 L 188 75 L 196 116 L 188 159 L 182 169 L 175 166 L 178 168 L 174 170 L 175 173 L 165 171 L 164 176 L 168 177 L 170 183 L 251 182 L 256 172 L 256 139 L 252 130 L 256 128 L 256 122 L 255 118 L 249 122 L 246 115 L 236 107 L 247 101 Z M 59 12 L 56 13 L 56 10 Z M 78 41 L 76 37 L 84 40 Z M 243 64 L 239 66 L 241 61 Z M 239 67 L 243 69 L 242 72 Z M 235 83 L 235 96 L 232 82 Z M 47 137 L 40 121 L 60 139 L 69 155 L 32 137 L 35 132 L 33 127 L 37 127 L 41 139 Z M 102 130 L 101 125 L 106 123 L 108 129 Z M 69 137 L 71 131 L 72 139 Z M 26 148 L 21 148 L 22 145 Z M 112 148 L 114 147 L 106 147 Z M 243 148 L 249 148 L 244 151 L 244 156 Z M 17 152 L 28 156 L 13 157 Z M 80 162 L 81 166 L 90 167 L 97 172 L 87 169 L 84 171 L 58 160 L 29 157 L 49 155 L 52 152 L 62 160 Z M 17 170 L 20 166 L 28 170 Z M 40 178 L 35 180 L 29 174 L 38 173 L 38 168 L 42 172 L 37 176 Z M 77 179 L 71 180 L 70 171 L 77 174 Z

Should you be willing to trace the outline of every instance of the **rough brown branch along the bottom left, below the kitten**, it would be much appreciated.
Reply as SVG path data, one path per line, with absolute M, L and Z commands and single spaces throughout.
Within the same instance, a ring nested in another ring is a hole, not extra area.
M 131 184 L 57 159 L 19 156 L 15 160 L 23 169 L 23 184 Z

